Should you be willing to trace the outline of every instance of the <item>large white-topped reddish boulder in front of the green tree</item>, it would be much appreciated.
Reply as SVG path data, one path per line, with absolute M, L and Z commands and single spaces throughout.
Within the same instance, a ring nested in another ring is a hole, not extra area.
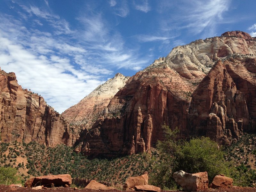
M 209 180 L 207 172 L 190 174 L 184 171 L 178 171 L 173 173 L 172 177 L 185 191 L 200 191 L 208 189 Z

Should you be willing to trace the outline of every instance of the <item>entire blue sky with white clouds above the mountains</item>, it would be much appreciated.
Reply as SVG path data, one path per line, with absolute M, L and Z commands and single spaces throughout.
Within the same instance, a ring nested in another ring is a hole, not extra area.
M 256 36 L 256 1 L 1 0 L 0 67 L 58 112 L 196 39 Z

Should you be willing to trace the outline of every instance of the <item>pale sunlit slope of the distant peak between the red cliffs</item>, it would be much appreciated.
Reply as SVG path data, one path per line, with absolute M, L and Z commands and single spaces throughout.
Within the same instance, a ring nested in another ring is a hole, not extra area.
M 107 107 L 111 98 L 124 87 L 129 78 L 117 73 L 115 77 L 99 85 L 79 103 L 68 108 L 61 115 L 70 124 L 91 128 L 92 123 L 99 117 L 102 110 Z

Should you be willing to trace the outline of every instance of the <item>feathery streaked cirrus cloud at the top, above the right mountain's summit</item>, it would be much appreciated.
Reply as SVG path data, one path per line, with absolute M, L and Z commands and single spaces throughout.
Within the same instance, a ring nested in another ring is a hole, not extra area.
M 191 35 L 214 36 L 220 24 L 236 22 L 223 17 L 230 6 L 231 0 L 164 1 L 158 4 L 158 12 L 163 15 L 160 29 L 165 32 L 187 29 Z

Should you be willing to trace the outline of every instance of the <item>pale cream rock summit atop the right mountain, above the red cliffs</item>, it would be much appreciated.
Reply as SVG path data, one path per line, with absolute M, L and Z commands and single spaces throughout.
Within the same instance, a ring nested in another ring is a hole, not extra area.
M 175 47 L 165 61 L 181 76 L 199 82 L 216 60 L 233 53 L 256 54 L 255 39 L 241 31 L 226 32 L 220 37 L 200 39 Z

